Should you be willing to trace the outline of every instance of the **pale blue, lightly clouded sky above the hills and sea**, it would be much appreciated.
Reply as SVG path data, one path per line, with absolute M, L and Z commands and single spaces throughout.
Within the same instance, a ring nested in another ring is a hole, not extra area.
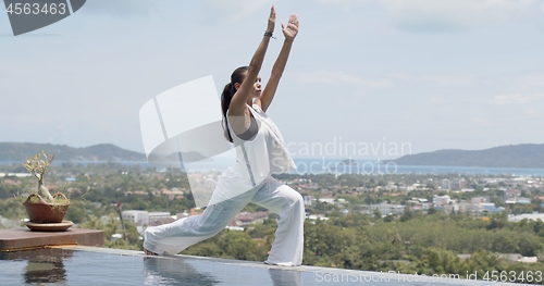
M 300 22 L 268 110 L 293 157 L 544 144 L 544 0 L 87 0 L 16 37 L 1 12 L 0 141 L 144 152 L 141 107 L 210 75 L 219 97 L 272 4 L 263 84 Z

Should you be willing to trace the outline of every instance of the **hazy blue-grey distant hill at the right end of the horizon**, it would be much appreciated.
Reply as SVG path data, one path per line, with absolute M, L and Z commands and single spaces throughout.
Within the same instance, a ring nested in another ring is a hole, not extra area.
M 391 160 L 399 165 L 544 169 L 544 144 L 500 146 L 484 150 L 438 150 Z

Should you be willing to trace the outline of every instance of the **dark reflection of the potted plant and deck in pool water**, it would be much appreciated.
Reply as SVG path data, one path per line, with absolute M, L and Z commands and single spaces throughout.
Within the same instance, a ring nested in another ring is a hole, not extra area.
M 0 260 L 28 261 L 22 274 L 26 284 L 64 283 L 66 270 L 63 260 L 71 257 L 72 251 L 62 249 L 0 252 Z

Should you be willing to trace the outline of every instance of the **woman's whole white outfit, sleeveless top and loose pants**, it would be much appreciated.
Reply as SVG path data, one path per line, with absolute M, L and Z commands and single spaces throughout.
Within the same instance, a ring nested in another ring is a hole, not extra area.
M 144 248 L 159 254 L 175 254 L 214 236 L 247 203 L 254 202 L 280 215 L 275 240 L 264 262 L 289 266 L 301 264 L 305 221 L 302 197 L 271 176 L 272 173 L 292 171 L 296 165 L 272 120 L 257 104 L 249 110 L 259 124 L 258 133 L 252 139 L 244 141 L 228 124 L 236 147 L 236 162 L 219 177 L 203 213 L 146 228 Z

